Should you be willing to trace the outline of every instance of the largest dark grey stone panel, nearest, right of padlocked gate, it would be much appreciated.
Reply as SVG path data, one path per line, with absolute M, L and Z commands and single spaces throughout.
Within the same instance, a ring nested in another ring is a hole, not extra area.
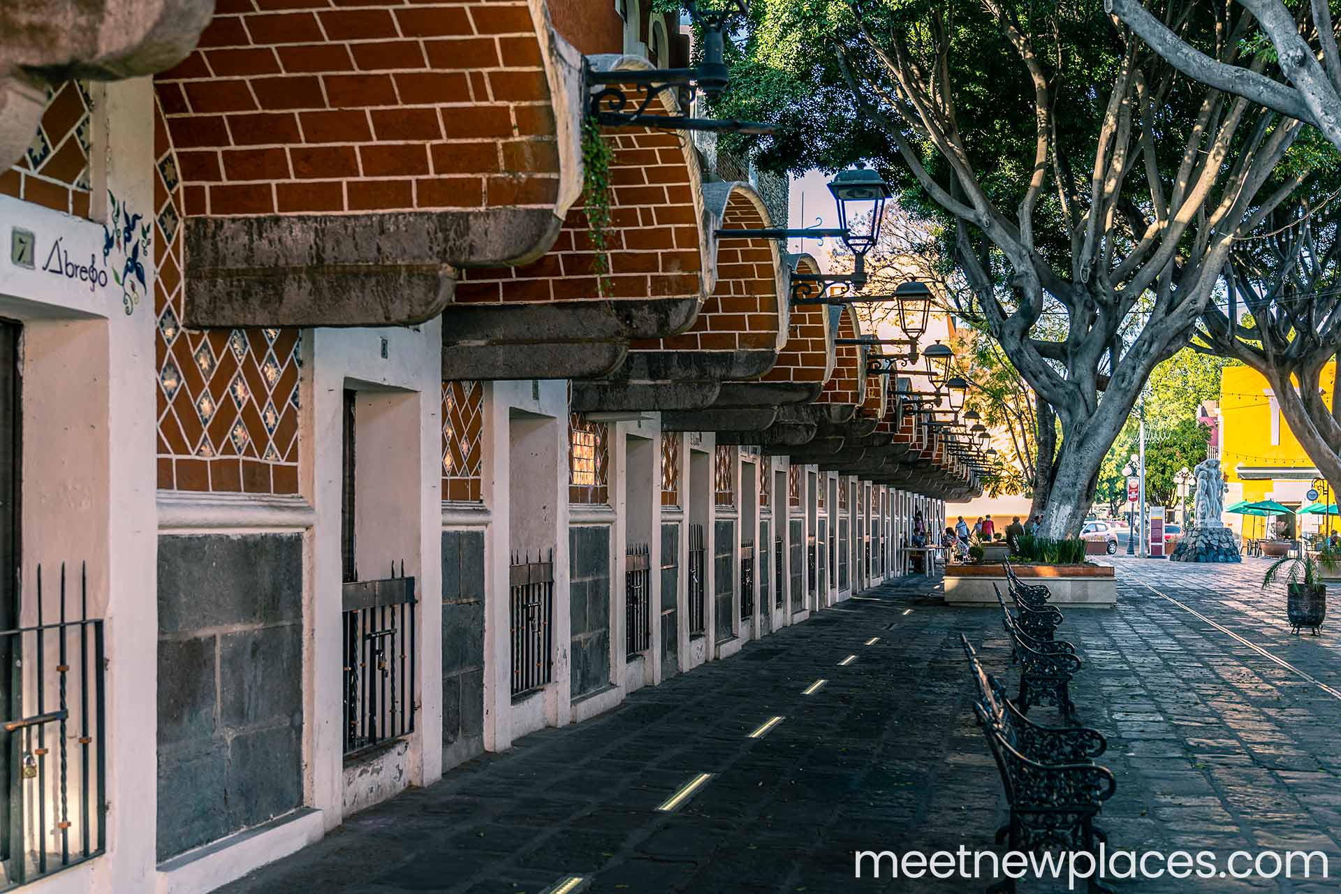
M 157 713 L 160 862 L 302 804 L 302 535 L 158 537 Z

